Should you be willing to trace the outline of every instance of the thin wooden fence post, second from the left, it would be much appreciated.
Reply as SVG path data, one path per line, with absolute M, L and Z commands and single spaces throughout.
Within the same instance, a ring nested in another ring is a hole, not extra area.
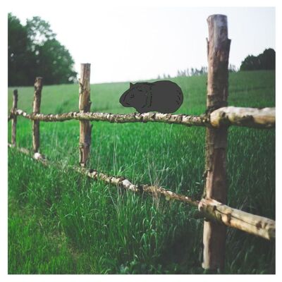
M 35 94 L 33 96 L 32 113 L 40 113 L 41 104 L 41 92 L 42 92 L 42 78 L 35 78 Z M 39 152 L 39 121 L 32 121 L 32 147 L 33 152 Z

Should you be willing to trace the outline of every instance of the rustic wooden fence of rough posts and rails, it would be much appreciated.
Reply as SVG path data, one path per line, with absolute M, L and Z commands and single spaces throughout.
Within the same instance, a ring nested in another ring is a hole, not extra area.
M 11 144 L 8 147 L 18 149 L 41 161 L 44 165 L 51 164 L 39 153 L 39 121 L 68 121 L 76 119 L 80 122 L 79 163 L 73 166 L 75 171 L 95 180 L 118 185 L 133 192 L 147 192 L 151 195 L 164 195 L 168 200 L 178 200 L 198 207 L 204 221 L 204 252 L 202 267 L 204 269 L 223 269 L 226 226 L 237 228 L 267 240 L 275 238 L 275 221 L 262 216 L 226 206 L 226 146 L 228 126 L 238 125 L 252 128 L 274 128 L 275 108 L 252 109 L 227 106 L 228 97 L 228 56 L 231 40 L 228 39 L 227 18 L 223 15 L 209 16 L 208 49 L 208 79 L 207 79 L 207 111 L 201 116 L 182 114 L 107 114 L 90 112 L 90 64 L 81 64 L 79 82 L 79 112 L 65 114 L 40 114 L 42 93 L 42 78 L 35 80 L 33 111 L 27 114 L 18 106 L 18 91 L 13 92 L 13 106 L 8 121 L 12 123 Z M 32 121 L 33 152 L 16 147 L 17 116 L 23 116 Z M 154 185 L 135 185 L 130 180 L 108 176 L 96 170 L 87 168 L 90 157 L 91 128 L 90 121 L 109 121 L 111 123 L 162 122 L 185 126 L 205 126 L 206 161 L 205 185 L 202 200 L 192 200 L 191 197 L 179 195 L 170 190 Z M 53 164 L 56 165 L 56 164 Z

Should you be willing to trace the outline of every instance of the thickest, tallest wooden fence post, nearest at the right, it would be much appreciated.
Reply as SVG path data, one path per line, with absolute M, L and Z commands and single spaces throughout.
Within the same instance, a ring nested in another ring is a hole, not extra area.
M 228 57 L 231 40 L 228 39 L 227 17 L 212 15 L 209 25 L 207 113 L 227 106 Z M 207 128 L 205 161 L 205 197 L 226 203 L 226 126 Z M 204 269 L 223 269 L 225 259 L 226 226 L 204 221 L 203 262 Z

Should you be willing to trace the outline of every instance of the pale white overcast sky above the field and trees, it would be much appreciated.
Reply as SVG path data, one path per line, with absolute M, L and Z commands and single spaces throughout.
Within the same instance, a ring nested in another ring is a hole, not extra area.
M 229 62 L 239 67 L 248 54 L 275 49 L 275 8 L 92 8 L 78 12 L 80 1 L 66 6 L 11 4 L 10 11 L 25 24 L 40 16 L 49 21 L 57 39 L 75 60 L 91 63 L 91 82 L 134 81 L 163 73 L 207 66 L 207 17 L 228 16 Z M 64 2 L 69 3 L 69 2 Z M 81 8 L 81 6 L 80 6 Z

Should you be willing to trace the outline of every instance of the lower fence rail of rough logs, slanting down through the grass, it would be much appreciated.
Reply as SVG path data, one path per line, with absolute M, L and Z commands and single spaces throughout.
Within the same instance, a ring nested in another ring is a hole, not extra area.
M 44 165 L 56 166 L 54 162 L 47 160 L 42 154 L 32 154 L 32 152 L 30 152 L 28 149 L 14 147 L 11 144 L 8 144 L 8 147 L 16 148 L 18 152 L 26 154 L 27 156 L 32 157 L 32 159 L 40 161 Z M 94 180 L 102 180 L 105 183 L 125 188 L 125 190 L 130 190 L 133 192 L 145 192 L 154 197 L 157 195 L 164 196 L 166 197 L 166 200 L 176 200 L 178 202 L 190 204 L 194 207 L 197 207 L 200 211 L 200 214 L 198 214 L 197 217 L 205 217 L 206 219 L 222 223 L 240 231 L 257 235 L 267 240 L 275 238 L 276 225 L 275 221 L 272 219 L 267 219 L 263 216 L 257 216 L 255 214 L 243 212 L 239 209 L 233 209 L 212 199 L 202 199 L 200 201 L 194 200 L 192 197 L 180 195 L 156 185 L 135 185 L 124 177 L 108 176 L 104 173 L 99 173 L 94 169 L 82 168 L 78 166 L 71 166 L 71 168 L 82 175 L 88 176 L 89 178 Z

